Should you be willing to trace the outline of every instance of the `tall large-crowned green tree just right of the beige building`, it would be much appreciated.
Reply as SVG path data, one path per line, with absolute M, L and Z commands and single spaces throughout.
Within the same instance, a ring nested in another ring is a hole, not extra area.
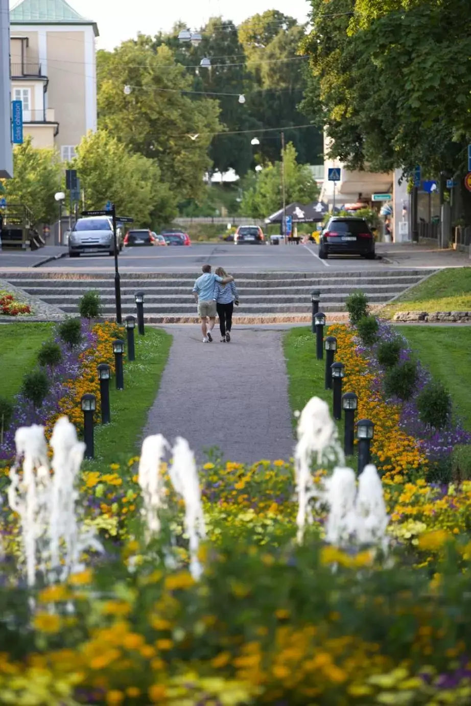
M 208 147 L 221 127 L 217 102 L 191 100 L 185 91 L 192 77 L 172 49 L 162 44 L 154 50 L 142 35 L 99 54 L 97 76 L 99 125 L 132 152 L 156 160 L 179 198 L 198 196 L 211 166 Z

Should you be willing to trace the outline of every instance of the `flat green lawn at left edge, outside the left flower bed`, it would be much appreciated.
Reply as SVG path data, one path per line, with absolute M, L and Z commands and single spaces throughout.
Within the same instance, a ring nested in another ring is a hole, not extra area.
M 12 399 L 20 391 L 25 373 L 34 368 L 42 342 L 51 334 L 50 323 L 0 325 L 0 395 Z

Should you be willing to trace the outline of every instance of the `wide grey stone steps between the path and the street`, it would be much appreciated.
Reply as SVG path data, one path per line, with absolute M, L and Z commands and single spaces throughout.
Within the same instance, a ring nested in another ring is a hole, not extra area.
M 345 299 L 362 291 L 371 305 L 381 306 L 417 284 L 429 270 L 360 270 L 352 273 L 243 273 L 237 275 L 240 306 L 234 313 L 239 323 L 257 321 L 308 321 L 311 292 L 321 292 L 320 309 L 325 313 L 345 311 Z M 8 273 L 7 281 L 30 296 L 76 314 L 78 301 L 89 289 L 100 292 L 103 316 L 113 318 L 114 275 L 112 273 Z M 196 304 L 191 295 L 194 278 L 176 273 L 123 273 L 121 306 L 123 316 L 136 313 L 134 294 L 145 294 L 144 313 L 148 323 L 196 321 Z

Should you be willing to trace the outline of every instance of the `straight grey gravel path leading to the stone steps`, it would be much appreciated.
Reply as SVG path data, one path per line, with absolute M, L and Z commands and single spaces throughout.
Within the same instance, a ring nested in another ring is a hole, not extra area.
M 145 436 L 184 436 L 198 462 L 217 446 L 225 460 L 287 460 L 294 436 L 279 330 L 233 329 L 232 341 L 201 340 L 199 326 L 172 329 L 169 361 Z

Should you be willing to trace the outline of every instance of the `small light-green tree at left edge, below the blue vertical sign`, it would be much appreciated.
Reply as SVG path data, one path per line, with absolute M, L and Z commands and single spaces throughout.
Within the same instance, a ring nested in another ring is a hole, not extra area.
M 13 179 L 1 180 L 8 203 L 28 206 L 34 225 L 58 215 L 54 194 L 61 189 L 62 165 L 55 150 L 37 149 L 30 136 L 13 152 Z

